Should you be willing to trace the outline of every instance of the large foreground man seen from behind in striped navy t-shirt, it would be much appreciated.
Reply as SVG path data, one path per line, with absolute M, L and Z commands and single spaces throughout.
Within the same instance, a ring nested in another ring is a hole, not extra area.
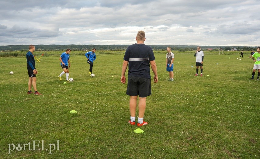
M 122 66 L 121 82 L 123 84 L 126 83 L 125 72 L 128 65 L 128 80 L 126 92 L 126 94 L 130 96 L 130 121 L 128 121 L 128 123 L 130 123 L 131 125 L 135 125 L 137 96 L 139 95 L 139 112 L 137 126 L 143 126 L 148 124 L 144 121 L 144 111 L 146 108 L 146 97 L 151 95 L 150 64 L 152 71 L 154 72 L 154 82 L 158 82 L 158 75 L 154 52 L 150 46 L 144 44 L 144 31 L 138 31 L 136 41 L 137 43 L 128 46 L 125 52 Z

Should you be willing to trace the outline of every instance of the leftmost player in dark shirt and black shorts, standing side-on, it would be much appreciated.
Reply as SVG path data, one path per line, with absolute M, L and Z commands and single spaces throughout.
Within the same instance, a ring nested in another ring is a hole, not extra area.
M 34 89 L 34 94 L 36 95 L 42 95 L 37 91 L 36 88 L 36 74 L 38 71 L 35 68 L 35 60 L 33 56 L 33 52 L 35 51 L 34 45 L 29 45 L 29 51 L 26 53 L 26 59 L 27 59 L 27 71 L 29 75 L 29 82 L 28 82 L 28 92 L 27 94 L 32 93 L 32 86 Z

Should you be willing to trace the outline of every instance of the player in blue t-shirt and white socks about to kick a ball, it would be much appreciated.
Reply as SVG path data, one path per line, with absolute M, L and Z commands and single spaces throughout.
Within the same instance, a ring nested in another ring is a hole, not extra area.
M 60 57 L 61 68 L 63 69 L 63 71 L 58 76 L 58 78 L 59 78 L 59 80 L 61 80 L 61 76 L 66 73 L 66 82 L 69 81 L 69 67 L 71 67 L 70 53 L 71 53 L 71 49 L 68 48 L 66 50 L 66 52 L 61 54 L 61 57 Z

